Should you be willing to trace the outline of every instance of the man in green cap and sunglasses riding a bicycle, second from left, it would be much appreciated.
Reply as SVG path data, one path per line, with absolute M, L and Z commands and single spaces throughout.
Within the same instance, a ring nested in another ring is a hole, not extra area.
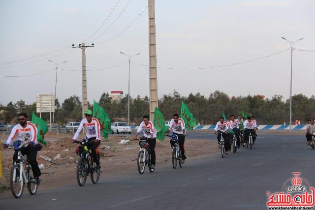
M 96 168 L 100 169 L 100 164 L 99 164 L 99 153 L 97 151 L 97 147 L 100 145 L 100 124 L 99 121 L 96 118 L 92 117 L 92 111 L 91 110 L 86 110 L 84 115 L 85 119 L 81 120 L 80 125 L 78 127 L 77 132 L 75 132 L 73 138 L 72 138 L 72 143 L 75 143 L 75 141 L 78 139 L 79 134 L 83 127 L 85 127 L 86 131 L 86 139 L 85 141 L 87 142 L 87 148 L 88 150 L 92 151 L 92 157 L 94 162 L 96 163 Z

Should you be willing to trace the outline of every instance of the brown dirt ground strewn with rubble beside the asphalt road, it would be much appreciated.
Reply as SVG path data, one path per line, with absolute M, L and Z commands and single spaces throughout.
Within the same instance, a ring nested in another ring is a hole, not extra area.
M 0 134 L 1 144 L 5 143 L 8 134 Z M 43 147 L 37 153 L 38 165 L 43 164 L 41 169 L 40 189 L 49 189 L 67 184 L 76 184 L 76 166 L 78 156 L 75 153 L 77 144 L 72 144 L 73 134 L 47 133 L 45 139 L 48 147 Z M 81 134 L 79 139 L 84 139 Z M 130 140 L 129 143 L 119 144 L 122 139 Z M 103 149 L 101 149 L 103 148 Z M 99 146 L 101 156 L 101 177 L 117 176 L 124 173 L 138 173 L 137 154 L 140 149 L 138 142 L 125 135 L 110 135 L 107 140 L 104 138 Z M 187 161 L 200 158 L 208 153 L 218 151 L 215 140 L 193 140 L 189 137 L 185 140 Z M 0 178 L 0 190 L 9 193 L 9 173 L 12 167 L 12 156 L 14 150 L 4 149 L 2 151 L 3 177 Z M 48 158 L 51 158 L 48 159 Z M 158 141 L 156 145 L 156 165 L 171 166 L 171 147 L 169 138 Z

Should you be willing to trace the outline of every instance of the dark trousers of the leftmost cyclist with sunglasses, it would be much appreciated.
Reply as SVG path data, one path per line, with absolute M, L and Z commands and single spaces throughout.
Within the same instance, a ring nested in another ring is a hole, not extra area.
M 38 163 L 36 161 L 37 156 L 37 148 L 35 146 L 28 145 L 27 147 L 22 147 L 20 149 L 22 155 L 27 155 L 30 165 L 32 167 L 33 175 L 35 178 L 41 175 L 40 170 L 38 168 Z M 18 150 L 15 150 L 13 154 L 13 163 L 18 159 Z

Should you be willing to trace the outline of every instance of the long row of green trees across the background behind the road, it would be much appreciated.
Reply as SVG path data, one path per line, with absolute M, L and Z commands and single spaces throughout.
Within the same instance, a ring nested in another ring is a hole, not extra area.
M 159 110 L 166 120 L 172 118 L 174 113 L 181 112 L 181 101 L 184 101 L 193 117 L 201 124 L 215 124 L 221 116 L 222 111 L 228 117 L 230 114 L 239 115 L 242 110 L 248 115 L 254 115 L 259 124 L 282 124 L 289 123 L 289 100 L 284 101 L 282 95 L 274 95 L 271 99 L 238 96 L 230 98 L 224 92 L 216 90 L 208 98 L 190 93 L 188 97 L 180 95 L 176 90 L 172 94 L 163 95 L 158 100 Z M 128 95 L 120 101 L 113 101 L 108 93 L 103 93 L 98 103 L 107 111 L 112 121 L 126 120 L 128 114 Z M 315 97 L 308 98 L 303 94 L 292 96 L 292 120 L 301 120 L 305 123 L 315 117 Z M 93 110 L 93 104 L 88 104 Z M 32 111 L 36 111 L 36 103 L 27 105 L 23 100 L 16 103 L 8 103 L 0 120 L 13 123 L 20 112 L 26 112 L 32 118 Z M 76 95 L 65 99 L 62 104 L 56 99 L 55 122 L 64 124 L 67 121 L 80 121 L 82 118 L 82 107 L 80 98 Z M 130 97 L 130 121 L 138 124 L 142 116 L 149 113 L 149 98 Z M 49 113 L 42 113 L 44 120 L 49 120 Z M 153 119 L 152 119 L 153 120 Z

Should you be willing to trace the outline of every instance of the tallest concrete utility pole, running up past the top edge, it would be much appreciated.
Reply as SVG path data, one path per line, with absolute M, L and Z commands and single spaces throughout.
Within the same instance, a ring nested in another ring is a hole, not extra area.
M 156 17 L 154 0 L 149 0 L 149 79 L 150 79 L 150 120 L 154 118 L 154 109 L 158 107 L 158 71 L 156 47 Z

